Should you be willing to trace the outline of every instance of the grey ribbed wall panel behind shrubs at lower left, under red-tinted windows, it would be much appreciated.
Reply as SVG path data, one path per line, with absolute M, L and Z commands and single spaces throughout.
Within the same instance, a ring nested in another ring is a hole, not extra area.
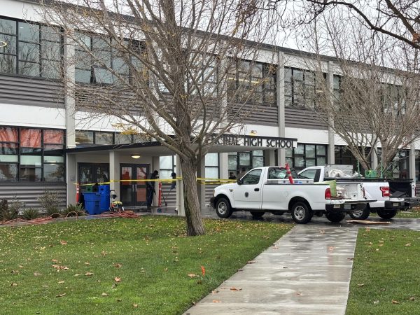
M 0 199 L 20 200 L 25 208 L 41 209 L 38 202 L 45 190 L 56 191 L 59 194 L 60 207 L 66 207 L 66 183 L 1 183 Z

